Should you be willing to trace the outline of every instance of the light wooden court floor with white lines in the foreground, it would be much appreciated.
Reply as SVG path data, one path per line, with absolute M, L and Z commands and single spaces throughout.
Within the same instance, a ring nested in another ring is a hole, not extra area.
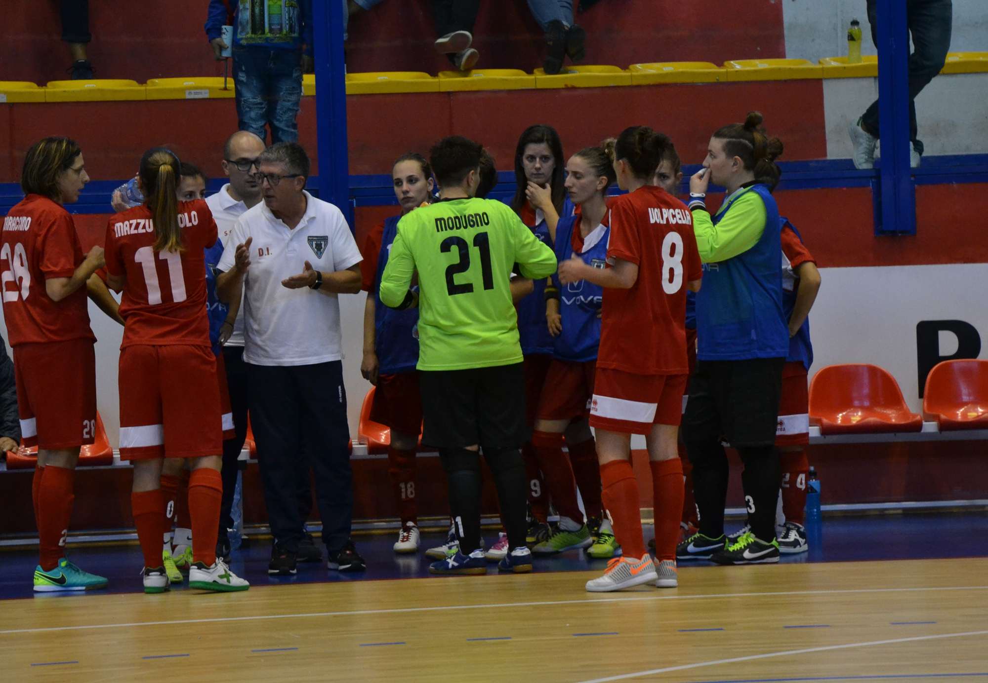
M 988 559 L 0 602 L 2 681 L 988 681 Z

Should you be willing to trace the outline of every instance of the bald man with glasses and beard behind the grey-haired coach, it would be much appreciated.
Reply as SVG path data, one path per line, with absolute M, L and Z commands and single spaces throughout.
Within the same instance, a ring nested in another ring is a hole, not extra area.
M 223 172 L 230 179 L 215 194 L 206 197 L 206 205 L 212 212 L 219 232 L 219 240 L 225 247 L 237 219 L 247 209 L 261 202 L 261 184 L 257 180 L 254 165 L 264 151 L 264 140 L 248 130 L 238 130 L 223 144 Z M 237 485 L 237 460 L 247 437 L 247 368 L 244 365 L 244 316 L 243 301 L 233 326 L 223 325 L 223 363 L 226 366 L 226 386 L 229 389 L 230 409 L 233 413 L 233 438 L 223 441 L 223 500 L 219 505 L 219 536 L 216 555 L 229 558 L 228 529 L 233 526 L 230 510 Z M 305 478 L 306 485 L 308 477 Z M 306 498 L 311 497 L 306 489 Z

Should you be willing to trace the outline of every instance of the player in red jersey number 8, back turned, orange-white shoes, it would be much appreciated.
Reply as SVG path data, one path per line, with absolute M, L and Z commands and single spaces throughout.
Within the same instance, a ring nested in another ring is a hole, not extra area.
M 624 555 L 587 582 L 595 592 L 649 581 L 677 585 L 683 468 L 676 440 L 687 380 L 686 293 L 700 289 L 701 270 L 686 205 L 649 185 L 668 145 L 668 137 L 647 126 L 620 134 L 615 171 L 628 194 L 611 204 L 611 267 L 576 259 L 559 265 L 563 284 L 587 279 L 605 287 L 590 423 L 597 429 L 604 506 Z M 652 469 L 658 571 L 641 533 L 632 433 L 645 434 Z

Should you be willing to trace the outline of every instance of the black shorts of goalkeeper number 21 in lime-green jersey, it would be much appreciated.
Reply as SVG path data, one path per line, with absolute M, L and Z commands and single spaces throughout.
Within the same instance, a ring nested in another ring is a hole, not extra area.
M 420 370 L 422 443 L 434 448 L 521 446 L 529 439 L 523 368 L 516 363 Z

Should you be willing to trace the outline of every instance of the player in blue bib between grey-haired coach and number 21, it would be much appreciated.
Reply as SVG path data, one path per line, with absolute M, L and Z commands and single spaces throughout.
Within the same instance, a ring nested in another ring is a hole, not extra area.
M 420 154 L 404 154 L 391 167 L 394 195 L 401 213 L 371 228 L 361 249 L 363 286 L 368 292 L 364 309 L 364 360 L 361 374 L 376 390 L 371 419 L 391 429 L 387 473 L 401 518 L 395 553 L 419 548 L 418 508 L 415 503 L 415 454 L 422 429 L 419 375 L 419 310 L 399 311 L 380 302 L 380 275 L 387 265 L 398 221 L 423 202 L 434 189 L 432 169 Z

